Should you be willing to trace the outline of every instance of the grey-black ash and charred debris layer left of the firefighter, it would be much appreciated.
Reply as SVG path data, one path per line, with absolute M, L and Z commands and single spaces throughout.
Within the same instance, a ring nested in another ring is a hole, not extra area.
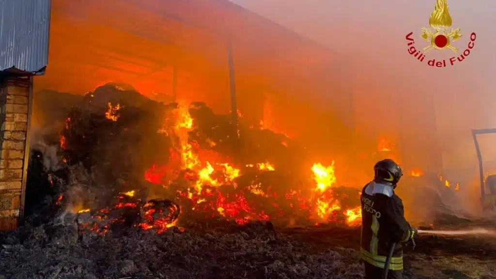
M 12 279 L 362 278 L 352 249 L 315 253 L 268 224 L 191 223 L 162 234 L 130 228 L 95 236 L 64 223 L 5 236 L 0 270 Z

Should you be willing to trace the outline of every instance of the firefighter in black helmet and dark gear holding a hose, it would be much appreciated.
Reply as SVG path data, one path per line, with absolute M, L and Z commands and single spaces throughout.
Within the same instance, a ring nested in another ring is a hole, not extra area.
M 403 274 L 402 243 L 417 233 L 404 216 L 403 202 L 394 189 L 403 172 L 391 159 L 374 166 L 374 179 L 362 190 L 361 258 L 366 279 L 382 279 L 386 258 L 395 244 L 388 279 L 401 279 Z

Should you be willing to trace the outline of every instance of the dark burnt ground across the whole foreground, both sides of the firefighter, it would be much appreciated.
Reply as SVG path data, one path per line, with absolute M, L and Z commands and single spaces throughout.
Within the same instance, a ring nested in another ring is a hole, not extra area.
M 359 228 L 273 228 L 190 222 L 162 234 L 129 228 L 103 236 L 65 224 L 28 225 L 5 235 L 5 278 L 362 278 Z M 496 278 L 495 242 L 419 236 L 405 249 L 410 279 Z M 1 278 L 1 277 L 0 277 Z

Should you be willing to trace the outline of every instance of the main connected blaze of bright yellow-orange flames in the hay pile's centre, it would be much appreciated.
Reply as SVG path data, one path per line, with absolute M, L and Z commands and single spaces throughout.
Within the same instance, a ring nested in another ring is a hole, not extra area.
M 250 220 L 270 220 L 280 217 L 283 213 L 274 210 L 275 215 L 250 205 L 246 195 L 256 195 L 265 199 L 265 203 L 279 208 L 281 199 L 289 202 L 295 210 L 308 211 L 308 217 L 315 222 L 327 222 L 335 215 L 344 216 L 348 225 L 360 223 L 360 209 L 342 209 L 333 193 L 333 186 L 337 181 L 334 174 L 334 162 L 329 166 L 315 163 L 310 166 L 313 172 L 313 183 L 308 191 L 308 197 L 303 196 L 303 191 L 288 189 L 287 193 L 266 192 L 259 182 L 251 183 L 246 189 L 240 189 L 236 179 L 244 171 L 256 169 L 259 172 L 271 172 L 276 168 L 271 162 L 246 164 L 243 167 L 234 164 L 219 154 L 199 147 L 194 141 L 188 140 L 189 133 L 195 129 L 194 120 L 190 116 L 187 106 L 180 106 L 176 110 L 176 123 L 173 129 L 164 127 L 159 133 L 177 136 L 176 146 L 171 150 L 171 162 L 166 166 L 152 166 L 145 172 L 145 179 L 154 184 L 169 187 L 177 179 L 177 172 L 171 170 L 176 165 L 184 171 L 187 181 L 186 189 L 179 191 L 178 195 L 185 201 L 189 200 L 193 210 L 210 211 L 228 219 L 234 219 L 239 224 Z M 215 142 L 211 142 L 215 145 Z M 178 160 L 179 158 L 179 160 Z M 179 161 L 179 162 L 178 162 Z M 271 191 L 270 189 L 267 189 Z M 274 191 L 274 190 L 272 190 Z

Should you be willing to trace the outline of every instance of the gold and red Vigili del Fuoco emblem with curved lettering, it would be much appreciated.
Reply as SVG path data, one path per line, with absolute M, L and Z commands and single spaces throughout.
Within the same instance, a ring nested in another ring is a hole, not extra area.
M 408 53 L 417 58 L 418 61 L 426 63 L 431 67 L 444 68 L 459 64 L 470 55 L 477 36 L 475 32 L 472 32 L 466 49 L 463 52 L 459 52 L 451 43 L 457 42 L 463 35 L 460 33 L 460 28 L 451 28 L 452 24 L 453 20 L 449 14 L 447 0 L 436 0 L 434 11 L 429 18 L 429 25 L 434 30 L 431 28 L 422 28 L 422 35 L 420 35 L 430 45 L 423 48 L 422 51 L 418 50 L 415 47 L 414 33 L 410 32 L 405 37 L 408 45 Z M 448 32 L 448 29 L 451 29 L 451 31 Z M 450 57 L 447 61 L 446 59 L 426 59 L 429 51 L 443 51 L 446 49 L 454 53 L 454 56 Z

